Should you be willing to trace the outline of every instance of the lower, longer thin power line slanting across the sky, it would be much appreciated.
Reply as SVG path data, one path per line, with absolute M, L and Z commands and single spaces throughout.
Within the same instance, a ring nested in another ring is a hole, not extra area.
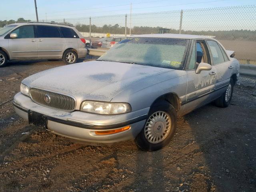
M 132 8 L 134 9 L 145 9 L 145 8 L 159 8 L 159 7 L 168 7 L 168 6 L 180 6 L 180 5 L 190 5 L 190 4 L 200 4 L 200 3 L 212 3 L 212 2 L 223 2 L 223 1 L 231 1 L 231 0 L 214 0 L 214 1 L 205 1 L 205 2 L 195 2 L 195 3 L 183 3 L 183 4 L 172 4 L 172 5 L 162 5 L 162 6 L 151 6 L 151 7 L 139 7 L 139 8 Z M 130 4 L 129 4 L 130 5 Z M 109 11 L 100 11 L 97 13 L 103 13 L 103 12 L 113 12 L 113 11 L 126 11 L 130 9 L 122 9 L 122 10 L 109 10 Z M 92 13 L 92 12 L 90 12 Z M 67 16 L 67 15 L 80 15 L 85 13 L 76 13 L 76 14 L 65 14 L 65 15 L 52 15 L 52 16 Z M 88 14 L 88 13 L 86 13 Z

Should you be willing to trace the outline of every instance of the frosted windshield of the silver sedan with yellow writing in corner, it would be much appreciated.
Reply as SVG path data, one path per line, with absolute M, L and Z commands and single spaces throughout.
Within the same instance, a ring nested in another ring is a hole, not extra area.
M 188 39 L 127 38 L 98 60 L 183 70 Z

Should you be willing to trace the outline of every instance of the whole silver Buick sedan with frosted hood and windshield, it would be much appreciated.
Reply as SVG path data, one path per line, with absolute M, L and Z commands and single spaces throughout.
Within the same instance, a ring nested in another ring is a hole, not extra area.
M 233 56 L 206 36 L 132 36 L 96 61 L 22 80 L 13 104 L 30 124 L 72 140 L 135 139 L 142 150 L 158 150 L 170 142 L 177 117 L 213 101 L 230 104 L 239 78 Z

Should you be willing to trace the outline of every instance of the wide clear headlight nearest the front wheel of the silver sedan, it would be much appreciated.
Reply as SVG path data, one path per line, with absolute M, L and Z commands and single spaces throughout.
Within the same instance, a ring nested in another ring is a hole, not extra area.
M 80 110 L 97 114 L 114 115 L 130 112 L 131 106 L 128 103 L 84 101 L 81 104 Z

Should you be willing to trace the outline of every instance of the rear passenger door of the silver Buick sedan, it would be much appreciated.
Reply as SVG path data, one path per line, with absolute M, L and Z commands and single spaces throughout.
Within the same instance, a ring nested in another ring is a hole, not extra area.
M 231 61 L 228 59 L 226 52 L 218 42 L 214 40 L 206 40 L 206 43 L 210 50 L 214 68 L 216 69 L 215 89 L 219 90 L 228 86 L 232 70 L 234 69 L 231 66 Z

